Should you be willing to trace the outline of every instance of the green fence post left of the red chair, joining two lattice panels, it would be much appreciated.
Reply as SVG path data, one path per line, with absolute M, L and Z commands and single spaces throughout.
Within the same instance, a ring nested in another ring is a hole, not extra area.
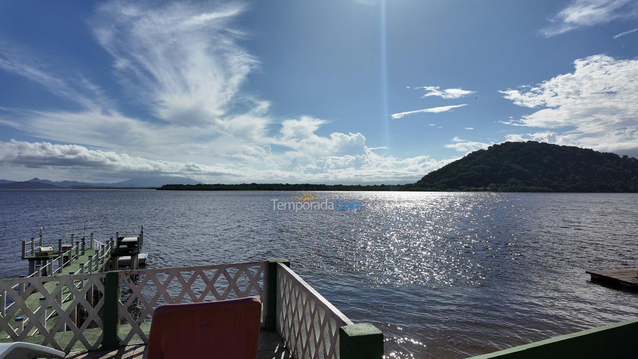
M 117 271 L 107 272 L 107 277 L 104 280 L 104 304 L 102 307 L 104 310 L 104 316 L 102 317 L 104 323 L 102 350 L 115 349 L 119 346 L 119 339 L 117 337 L 119 333 L 117 306 L 121 291 Z

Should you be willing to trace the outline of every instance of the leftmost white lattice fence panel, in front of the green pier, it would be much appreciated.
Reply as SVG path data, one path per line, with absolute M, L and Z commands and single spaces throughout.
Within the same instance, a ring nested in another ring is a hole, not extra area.
M 6 298 L 13 302 L 0 315 L 0 335 L 14 342 L 41 335 L 42 345 L 66 352 L 78 341 L 89 350 L 97 349 L 103 334 L 89 340 L 84 332 L 89 326 L 103 328 L 99 312 L 104 277 L 104 273 L 94 273 L 0 280 L 0 293 L 6 291 Z M 85 314 L 79 327 L 78 313 L 80 317 Z M 24 320 L 16 321 L 17 317 Z

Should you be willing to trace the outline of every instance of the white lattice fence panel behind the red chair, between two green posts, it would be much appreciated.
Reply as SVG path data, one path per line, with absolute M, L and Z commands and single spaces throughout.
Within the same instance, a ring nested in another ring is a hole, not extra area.
M 266 277 L 265 261 L 121 271 L 122 298 L 118 316 L 120 323 L 131 325 L 131 330 L 120 338 L 119 344 L 128 344 L 136 335 L 148 342 L 141 325 L 151 319 L 156 307 L 163 304 L 260 296 L 263 308 L 266 308 Z

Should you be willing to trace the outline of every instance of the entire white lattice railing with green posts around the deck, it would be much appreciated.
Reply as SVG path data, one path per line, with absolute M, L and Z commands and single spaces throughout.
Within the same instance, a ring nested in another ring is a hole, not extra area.
M 98 245 L 104 259 L 108 245 Z M 0 314 L 0 342 L 29 341 L 67 353 L 115 349 L 147 343 L 159 305 L 259 296 L 262 327 L 276 330 L 293 357 L 382 358 L 378 329 L 353 324 L 289 267 L 271 259 L 0 280 L 0 291 L 13 301 Z

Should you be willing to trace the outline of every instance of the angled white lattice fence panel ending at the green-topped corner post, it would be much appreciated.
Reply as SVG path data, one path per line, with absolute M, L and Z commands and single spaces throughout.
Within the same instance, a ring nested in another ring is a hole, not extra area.
M 297 359 L 338 359 L 339 328 L 353 324 L 284 264 L 277 268 L 277 332 Z

